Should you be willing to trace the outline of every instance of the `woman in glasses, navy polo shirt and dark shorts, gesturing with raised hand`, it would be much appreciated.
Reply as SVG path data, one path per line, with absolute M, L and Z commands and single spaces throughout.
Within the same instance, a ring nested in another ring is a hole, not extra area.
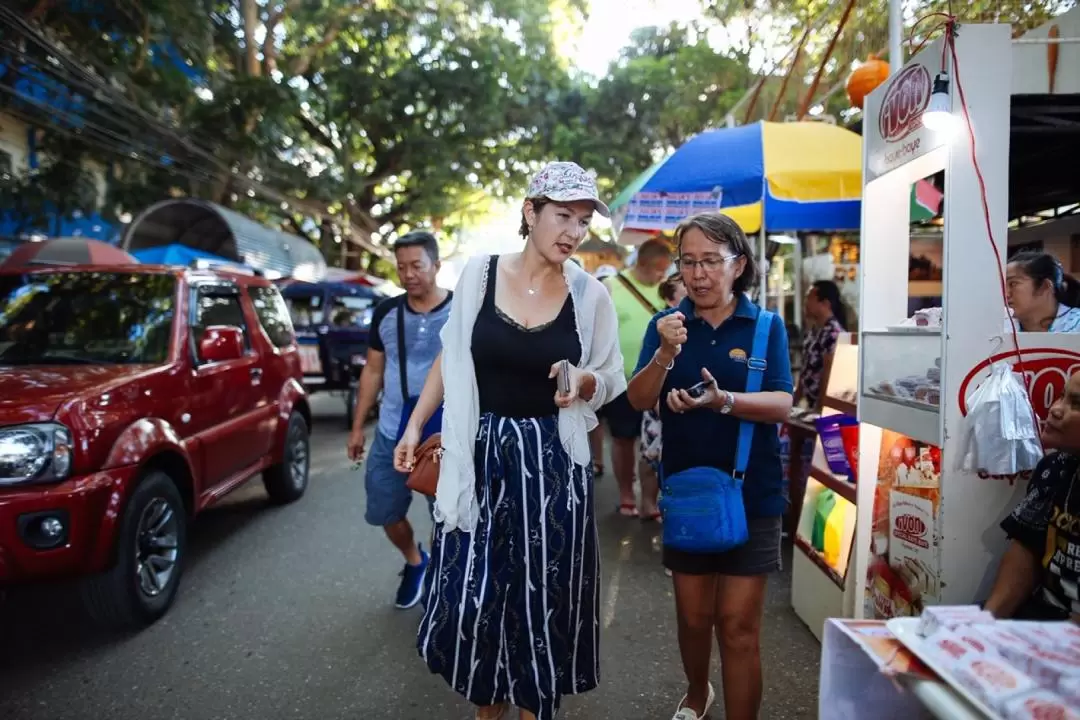
M 780 568 L 784 494 L 778 423 L 792 407 L 792 370 L 784 324 L 773 316 L 767 368 L 757 393 L 746 359 L 760 309 L 747 297 L 757 281 L 754 252 L 730 218 L 687 218 L 675 231 L 688 297 L 652 318 L 627 397 L 638 409 L 658 399 L 663 423 L 663 475 L 711 466 L 731 472 L 739 425 L 755 423 L 743 500 L 750 540 L 727 553 L 664 547 L 675 584 L 678 643 L 687 694 L 674 720 L 700 720 L 715 691 L 708 681 L 713 635 L 720 644 L 725 717 L 757 718 L 761 704 L 759 635 L 769 573 Z M 693 398 L 686 389 L 711 381 Z

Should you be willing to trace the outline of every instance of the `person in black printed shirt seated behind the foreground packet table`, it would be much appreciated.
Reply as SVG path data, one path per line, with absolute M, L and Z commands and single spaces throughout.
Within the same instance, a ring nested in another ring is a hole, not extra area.
M 1009 547 L 985 608 L 997 617 L 1080 622 L 1080 372 L 1050 408 L 1047 456 L 1002 522 Z

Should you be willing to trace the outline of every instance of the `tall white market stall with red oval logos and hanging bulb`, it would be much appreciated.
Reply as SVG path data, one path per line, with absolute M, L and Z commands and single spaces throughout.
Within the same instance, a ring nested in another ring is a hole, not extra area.
M 972 393 L 994 364 L 1011 364 L 1041 420 L 1080 369 L 1080 338 L 1014 336 L 1007 320 L 1010 95 L 997 79 L 1011 71 L 1009 28 L 964 26 L 955 60 L 944 42 L 930 43 L 867 100 L 861 283 L 873 293 L 860 294 L 855 532 L 846 578 L 854 586 L 805 601 L 835 578 L 796 554 L 793 603 L 815 633 L 827 616 L 916 615 L 985 594 L 1004 545 L 997 525 L 1026 476 L 961 470 Z M 943 56 L 955 81 L 931 105 Z M 928 118 L 933 110 L 943 116 Z M 943 302 L 912 318 L 908 196 L 914 182 L 939 172 Z M 819 485 L 808 484 L 804 515 Z M 837 504 L 849 502 L 836 494 Z

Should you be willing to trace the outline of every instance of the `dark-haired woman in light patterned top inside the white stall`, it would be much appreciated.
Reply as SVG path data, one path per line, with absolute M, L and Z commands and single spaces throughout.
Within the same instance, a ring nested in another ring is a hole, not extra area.
M 1049 253 L 1018 253 L 1005 274 L 1009 307 L 1025 332 L 1080 332 L 1080 283 Z

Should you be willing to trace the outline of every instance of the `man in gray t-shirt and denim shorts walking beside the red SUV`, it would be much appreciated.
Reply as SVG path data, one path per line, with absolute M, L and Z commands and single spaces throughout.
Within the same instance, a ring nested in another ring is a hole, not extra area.
M 405 570 L 397 588 L 395 604 L 411 608 L 420 601 L 428 554 L 417 544 L 408 521 L 413 492 L 405 487 L 408 477 L 394 470 L 394 446 L 402 416 L 423 389 L 428 371 L 443 349 L 440 332 L 450 315 L 451 293 L 435 285 L 438 273 L 438 245 L 428 232 L 413 232 L 394 243 L 397 275 L 405 295 L 391 298 L 375 309 L 368 339 L 367 365 L 360 377 L 356 416 L 349 435 L 348 452 L 352 460 L 364 459 L 364 421 L 375 406 L 379 391 L 379 425 L 365 460 L 364 485 L 369 525 L 381 526 L 390 542 L 405 557 Z M 402 348 L 404 336 L 405 382 L 402 388 Z

